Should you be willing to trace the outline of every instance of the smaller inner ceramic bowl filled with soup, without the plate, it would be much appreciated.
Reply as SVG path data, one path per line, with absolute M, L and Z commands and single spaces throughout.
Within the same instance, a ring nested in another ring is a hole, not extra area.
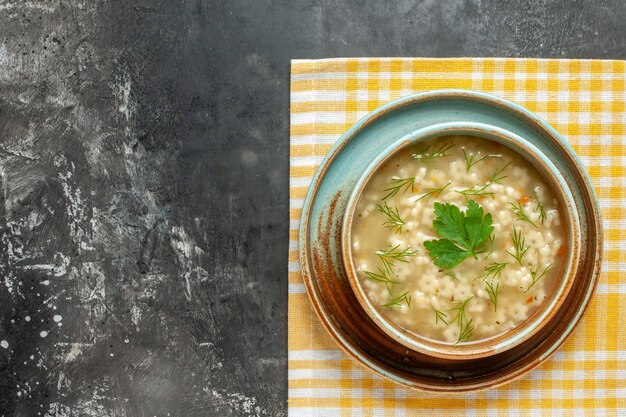
M 373 322 L 444 359 L 495 355 L 546 328 L 577 274 L 574 197 L 506 129 L 442 123 L 402 137 L 359 178 L 342 254 Z

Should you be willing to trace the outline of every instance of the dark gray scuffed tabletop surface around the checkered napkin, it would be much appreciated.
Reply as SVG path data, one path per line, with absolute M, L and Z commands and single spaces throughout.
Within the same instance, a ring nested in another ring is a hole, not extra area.
M 0 0 L 0 416 L 285 416 L 290 58 L 625 58 L 625 20 Z

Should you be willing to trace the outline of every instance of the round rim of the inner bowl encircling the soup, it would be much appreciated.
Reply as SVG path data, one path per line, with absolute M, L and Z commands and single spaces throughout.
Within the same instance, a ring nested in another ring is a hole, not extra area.
M 403 329 L 398 324 L 387 319 L 380 313 L 361 285 L 361 280 L 356 273 L 352 256 L 352 225 L 356 207 L 363 195 L 365 187 L 379 169 L 392 159 L 398 152 L 413 146 L 424 140 L 437 137 L 449 137 L 453 135 L 466 135 L 501 143 L 512 152 L 520 155 L 530 162 L 547 180 L 549 185 L 556 186 L 552 190 L 558 195 L 559 202 L 564 205 L 567 214 L 565 223 L 567 230 L 568 257 L 564 268 L 561 268 L 560 277 L 552 285 L 550 296 L 541 303 L 539 308 L 520 325 L 505 332 L 476 341 L 453 344 L 425 338 L 414 332 Z M 524 149 L 520 152 L 510 145 L 514 144 Z M 558 168 L 549 158 L 535 145 L 523 137 L 498 126 L 478 122 L 443 122 L 417 129 L 391 143 L 385 150 L 379 153 L 365 168 L 355 184 L 346 204 L 341 226 L 341 255 L 345 272 L 350 286 L 356 295 L 361 307 L 365 310 L 372 321 L 387 335 L 405 347 L 442 359 L 468 360 L 496 355 L 520 345 L 540 332 L 554 317 L 572 287 L 577 274 L 578 260 L 580 258 L 580 245 L 574 244 L 580 238 L 580 222 L 574 197 L 568 184 L 558 175 Z

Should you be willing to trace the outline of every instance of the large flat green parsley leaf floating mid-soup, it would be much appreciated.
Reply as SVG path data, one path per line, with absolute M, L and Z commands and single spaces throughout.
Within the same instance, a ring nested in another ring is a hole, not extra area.
M 433 227 L 443 239 L 428 240 L 424 247 L 440 268 L 450 269 L 470 255 L 475 257 L 493 233 L 491 214 L 474 200 L 465 212 L 454 204 L 435 203 L 435 214 Z

